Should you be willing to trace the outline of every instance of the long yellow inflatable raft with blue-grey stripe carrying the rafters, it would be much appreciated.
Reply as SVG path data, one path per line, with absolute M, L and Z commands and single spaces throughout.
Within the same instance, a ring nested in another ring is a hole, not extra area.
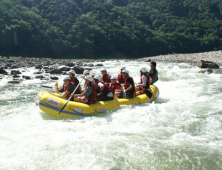
M 109 101 L 99 101 L 95 104 L 87 105 L 84 103 L 69 101 L 59 117 L 75 117 L 75 116 L 93 116 L 97 113 L 104 113 L 108 110 L 118 108 L 120 105 L 139 105 L 143 103 L 152 103 L 159 96 L 159 89 L 151 85 L 150 91 L 153 96 L 151 99 L 146 94 L 139 95 L 131 99 L 117 99 Z M 60 95 L 49 92 L 42 92 L 35 97 L 39 108 L 48 114 L 58 116 L 61 108 L 66 104 L 67 100 L 60 98 Z

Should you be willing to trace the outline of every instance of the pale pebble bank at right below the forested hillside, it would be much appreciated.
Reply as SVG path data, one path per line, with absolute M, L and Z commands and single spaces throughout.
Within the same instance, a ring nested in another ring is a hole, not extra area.
M 196 65 L 200 60 L 212 61 L 222 66 L 222 50 L 203 52 L 203 53 L 190 53 L 190 54 L 175 54 L 175 55 L 160 55 L 153 57 L 145 57 L 138 59 L 139 61 L 163 61 L 163 62 L 176 62 L 176 63 L 190 63 Z

